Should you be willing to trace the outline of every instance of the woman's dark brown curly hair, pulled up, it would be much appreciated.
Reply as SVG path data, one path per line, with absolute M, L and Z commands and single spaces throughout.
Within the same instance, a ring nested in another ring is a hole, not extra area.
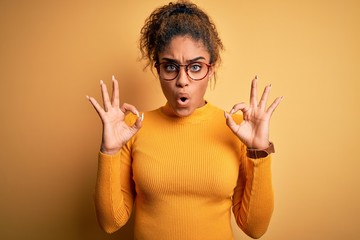
M 197 5 L 180 0 L 155 9 L 141 29 L 140 51 L 147 65 L 158 63 L 162 52 L 175 36 L 190 36 L 202 41 L 210 54 L 210 63 L 220 63 L 223 44 L 215 24 Z

